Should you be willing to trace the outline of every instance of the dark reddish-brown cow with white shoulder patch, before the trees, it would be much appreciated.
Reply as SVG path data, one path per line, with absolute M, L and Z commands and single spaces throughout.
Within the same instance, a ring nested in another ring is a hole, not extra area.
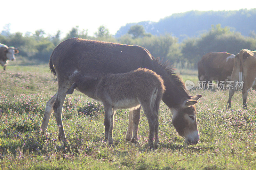
M 227 52 L 210 52 L 197 63 L 200 81 L 225 81 L 230 79 L 233 70 L 234 54 Z

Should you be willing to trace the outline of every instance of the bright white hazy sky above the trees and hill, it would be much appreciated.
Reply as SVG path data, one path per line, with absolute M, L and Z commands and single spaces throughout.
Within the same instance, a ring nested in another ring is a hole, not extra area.
M 5 3 L 6 2 L 6 3 Z M 65 36 L 72 27 L 88 29 L 93 35 L 100 25 L 111 34 L 126 23 L 158 21 L 173 13 L 198 11 L 239 10 L 256 8 L 255 0 L 12 0 L 2 2 L 0 32 L 10 23 L 11 33 L 32 32 L 43 29 L 45 33 L 55 34 L 60 30 Z

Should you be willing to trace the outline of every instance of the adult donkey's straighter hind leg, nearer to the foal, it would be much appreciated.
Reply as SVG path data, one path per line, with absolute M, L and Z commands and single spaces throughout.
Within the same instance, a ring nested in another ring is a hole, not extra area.
M 58 83 L 60 83 L 60 82 L 58 82 Z M 62 122 L 62 109 L 63 109 L 64 101 L 67 96 L 67 93 L 66 93 L 67 90 L 68 90 L 68 87 L 66 85 L 59 85 L 56 100 L 53 105 L 53 110 L 54 110 L 54 114 L 56 117 L 57 126 L 59 128 L 58 137 L 59 137 L 59 139 L 65 139 L 65 140 L 66 140 L 66 135 L 64 132 L 64 126 L 63 126 L 63 122 Z

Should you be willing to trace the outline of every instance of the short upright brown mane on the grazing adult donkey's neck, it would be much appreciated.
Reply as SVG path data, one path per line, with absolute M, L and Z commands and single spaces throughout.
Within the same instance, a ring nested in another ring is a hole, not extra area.
M 176 69 L 174 68 L 173 65 L 170 64 L 169 61 L 165 61 L 163 62 L 163 59 L 160 60 L 160 58 L 154 58 L 153 60 L 162 68 L 164 69 L 164 71 L 167 73 L 167 75 L 174 80 L 175 85 L 185 89 L 185 85 L 182 81 L 182 79 L 180 78 L 180 74 L 177 73 Z M 185 90 L 186 91 L 186 90 Z M 187 93 L 187 91 L 186 91 Z

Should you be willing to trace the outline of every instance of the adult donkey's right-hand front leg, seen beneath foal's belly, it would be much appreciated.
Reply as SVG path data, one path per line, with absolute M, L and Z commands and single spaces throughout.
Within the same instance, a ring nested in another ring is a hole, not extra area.
M 133 133 L 132 133 L 132 143 L 136 143 L 138 141 L 138 126 L 140 123 L 140 108 L 133 110 L 132 122 L 133 122 Z

